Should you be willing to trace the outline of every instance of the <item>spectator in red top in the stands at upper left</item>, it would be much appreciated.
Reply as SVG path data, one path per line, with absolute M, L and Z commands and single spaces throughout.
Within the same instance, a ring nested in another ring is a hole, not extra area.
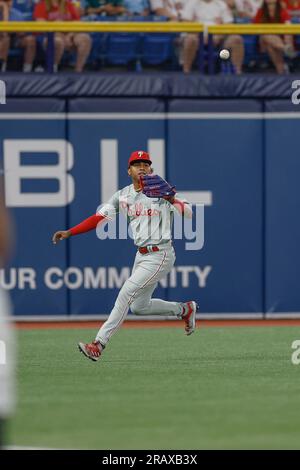
M 34 8 L 36 21 L 79 21 L 79 11 L 70 0 L 42 0 Z M 46 47 L 47 40 L 44 40 Z M 86 33 L 55 33 L 54 36 L 54 71 L 62 59 L 64 50 L 75 49 L 77 52 L 76 72 L 82 72 L 91 50 L 92 41 Z

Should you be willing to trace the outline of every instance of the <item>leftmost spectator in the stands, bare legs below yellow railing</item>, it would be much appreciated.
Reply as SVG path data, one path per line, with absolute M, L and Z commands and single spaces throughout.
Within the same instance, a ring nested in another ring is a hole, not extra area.
M 23 13 L 13 8 L 13 0 L 5 1 L 7 21 L 25 21 Z M 0 34 L 1 71 L 5 72 L 9 48 L 24 49 L 23 72 L 31 72 L 36 54 L 36 38 L 28 33 Z

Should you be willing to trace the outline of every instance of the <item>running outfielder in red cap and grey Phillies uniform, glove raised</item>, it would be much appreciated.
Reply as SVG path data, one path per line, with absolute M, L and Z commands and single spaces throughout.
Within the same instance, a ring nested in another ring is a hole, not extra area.
M 99 223 L 112 220 L 119 212 L 125 213 L 132 230 L 137 254 L 131 276 L 121 288 L 95 341 L 78 345 L 79 350 L 92 361 L 100 358 L 129 308 L 137 315 L 170 315 L 180 318 L 184 322 L 186 335 L 191 335 L 196 327 L 198 305 L 195 301 L 167 302 L 152 299 L 158 281 L 171 271 L 175 262 L 171 240 L 174 211 L 191 218 L 192 209 L 187 201 L 178 198 L 174 187 L 160 176 L 153 175 L 151 165 L 147 152 L 133 152 L 128 160 L 128 175 L 132 184 L 117 191 L 95 215 L 69 230 L 56 232 L 52 238 L 56 244 L 60 240 L 88 232 Z

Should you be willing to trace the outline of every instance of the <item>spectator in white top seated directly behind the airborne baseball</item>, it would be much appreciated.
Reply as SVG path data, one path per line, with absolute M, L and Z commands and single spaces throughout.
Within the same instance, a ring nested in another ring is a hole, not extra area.
M 216 25 L 224 23 L 233 23 L 233 16 L 223 0 L 188 0 L 182 11 L 183 21 L 195 21 L 205 25 Z M 205 37 L 207 42 L 207 36 Z M 244 60 L 244 41 L 239 35 L 224 36 L 216 35 L 213 37 L 214 45 L 224 47 L 231 51 L 231 62 L 234 65 L 235 72 L 242 72 Z M 183 47 L 183 71 L 191 71 L 194 59 L 199 46 L 198 34 L 186 34 Z

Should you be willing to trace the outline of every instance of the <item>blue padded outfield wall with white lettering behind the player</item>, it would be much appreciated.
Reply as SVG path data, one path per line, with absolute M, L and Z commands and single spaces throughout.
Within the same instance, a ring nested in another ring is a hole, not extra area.
M 94 232 L 57 246 L 130 184 L 131 151 L 193 202 L 205 202 L 205 242 L 174 242 L 172 276 L 155 296 L 197 299 L 204 314 L 300 312 L 300 115 L 289 99 L 8 97 L 0 162 L 16 252 L 0 282 L 15 315 L 107 314 L 135 247 Z

